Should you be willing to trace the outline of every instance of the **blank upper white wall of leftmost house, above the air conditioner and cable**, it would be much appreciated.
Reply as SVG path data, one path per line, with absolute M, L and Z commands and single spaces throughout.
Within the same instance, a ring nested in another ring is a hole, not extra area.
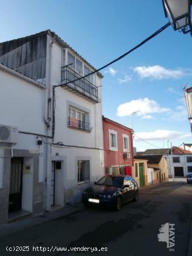
M 45 89 L 0 68 L 0 124 L 19 127 L 20 131 L 44 133 Z

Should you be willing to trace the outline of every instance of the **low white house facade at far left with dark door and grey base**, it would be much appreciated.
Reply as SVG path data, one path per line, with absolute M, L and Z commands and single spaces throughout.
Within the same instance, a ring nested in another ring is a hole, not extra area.
M 0 222 L 43 212 L 45 86 L 0 64 Z

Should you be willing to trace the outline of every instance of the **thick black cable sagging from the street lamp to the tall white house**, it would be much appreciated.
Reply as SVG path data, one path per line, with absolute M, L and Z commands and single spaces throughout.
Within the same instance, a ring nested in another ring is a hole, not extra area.
M 128 54 L 130 54 L 131 52 L 135 51 L 137 48 L 139 48 L 140 46 L 143 46 L 143 44 L 147 43 L 149 40 L 151 40 L 152 38 L 155 38 L 156 35 L 160 34 L 162 31 L 164 31 L 166 28 L 168 28 L 170 26 L 170 22 L 166 23 L 163 27 L 159 28 L 156 32 L 154 32 L 151 36 L 148 36 L 148 38 L 144 39 L 141 43 L 137 44 L 137 46 L 133 47 L 132 49 L 130 49 L 128 52 L 124 53 L 123 55 L 120 55 L 118 58 L 116 58 L 115 60 L 112 60 L 110 63 L 104 65 L 103 67 L 85 75 L 82 77 L 79 77 L 78 79 L 74 79 L 73 81 L 70 81 L 70 83 L 72 82 L 76 82 L 78 80 L 84 79 L 87 76 L 90 76 L 94 73 L 97 73 L 99 71 L 101 71 L 104 68 L 107 68 L 108 66 L 110 66 L 111 64 L 114 64 L 116 61 L 123 59 L 125 56 L 127 56 Z M 56 85 L 55 87 L 58 86 L 64 86 L 67 85 L 69 82 L 66 82 L 65 84 L 61 84 L 61 85 Z

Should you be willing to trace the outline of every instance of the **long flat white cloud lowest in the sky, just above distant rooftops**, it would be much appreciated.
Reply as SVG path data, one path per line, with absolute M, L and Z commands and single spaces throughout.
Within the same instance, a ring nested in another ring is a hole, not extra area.
M 140 141 L 140 139 L 144 139 L 145 141 L 158 141 L 160 139 L 183 139 L 191 137 L 191 134 L 184 134 L 174 130 L 143 131 L 141 133 L 136 133 L 135 135 L 135 141 Z

